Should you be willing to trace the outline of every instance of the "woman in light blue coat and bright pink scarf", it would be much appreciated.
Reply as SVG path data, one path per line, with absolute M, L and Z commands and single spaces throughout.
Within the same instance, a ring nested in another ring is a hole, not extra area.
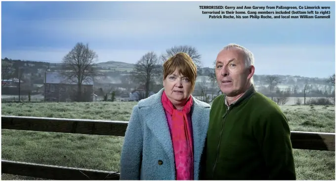
M 186 53 L 163 65 L 164 88 L 134 106 L 120 180 L 198 180 L 210 105 L 191 96 L 197 68 Z

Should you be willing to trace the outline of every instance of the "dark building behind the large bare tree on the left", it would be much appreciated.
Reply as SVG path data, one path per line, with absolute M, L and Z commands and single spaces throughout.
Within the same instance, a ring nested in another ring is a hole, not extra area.
M 93 79 L 87 77 L 82 83 L 82 101 L 93 101 Z M 61 72 L 44 73 L 44 100 L 57 102 L 72 102 L 78 95 L 76 80 L 69 80 Z

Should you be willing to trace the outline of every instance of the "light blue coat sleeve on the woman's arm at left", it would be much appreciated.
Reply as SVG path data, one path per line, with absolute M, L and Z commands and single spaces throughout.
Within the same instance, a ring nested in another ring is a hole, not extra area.
M 120 180 L 140 180 L 143 134 L 138 107 L 134 106 L 126 128 L 120 158 Z

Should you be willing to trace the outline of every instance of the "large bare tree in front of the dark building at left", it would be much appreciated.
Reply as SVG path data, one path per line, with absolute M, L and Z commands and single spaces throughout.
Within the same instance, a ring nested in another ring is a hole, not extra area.
M 78 85 L 77 101 L 82 101 L 82 84 L 93 81 L 97 72 L 93 66 L 98 55 L 88 47 L 88 44 L 79 42 L 63 58 L 63 72 L 61 73 L 69 82 L 76 82 Z

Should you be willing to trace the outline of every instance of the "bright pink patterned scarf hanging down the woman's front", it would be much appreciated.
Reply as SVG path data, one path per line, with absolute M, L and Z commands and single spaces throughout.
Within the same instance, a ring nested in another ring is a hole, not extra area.
M 165 91 L 162 94 L 164 109 L 171 115 L 171 139 L 174 149 L 176 180 L 194 180 L 194 153 L 187 114 L 193 104 L 191 96 L 182 110 L 174 109 Z

